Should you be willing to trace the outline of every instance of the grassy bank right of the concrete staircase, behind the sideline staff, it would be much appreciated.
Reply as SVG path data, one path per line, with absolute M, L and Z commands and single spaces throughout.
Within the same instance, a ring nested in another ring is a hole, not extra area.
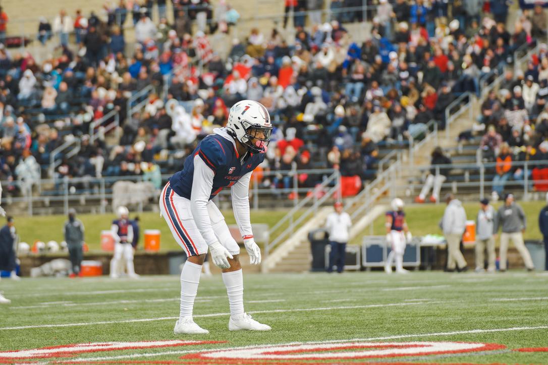
M 540 240 L 542 235 L 539 230 L 539 213 L 540 210 L 546 206 L 543 201 L 519 201 L 518 204 L 523 208 L 525 215 L 527 216 L 527 229 L 524 234 L 526 240 Z M 502 205 L 501 202 L 493 204 L 495 210 Z M 479 210 L 479 202 L 477 203 L 465 203 L 463 204 L 466 210 L 466 217 L 472 221 L 476 220 L 476 216 Z M 424 236 L 426 234 L 442 234 L 441 229 L 438 227 L 439 221 L 443 217 L 443 211 L 445 210 L 445 204 L 410 204 L 404 207 L 406 212 L 407 224 L 409 230 L 415 236 Z M 384 226 L 385 217 L 381 215 L 373 224 L 374 235 L 385 235 L 386 228 Z M 500 233 L 500 231 L 499 231 Z M 368 227 L 357 235 L 350 243 L 353 245 L 359 245 L 362 242 L 362 237 L 372 234 L 371 227 Z M 498 241 L 498 240 L 497 240 Z

